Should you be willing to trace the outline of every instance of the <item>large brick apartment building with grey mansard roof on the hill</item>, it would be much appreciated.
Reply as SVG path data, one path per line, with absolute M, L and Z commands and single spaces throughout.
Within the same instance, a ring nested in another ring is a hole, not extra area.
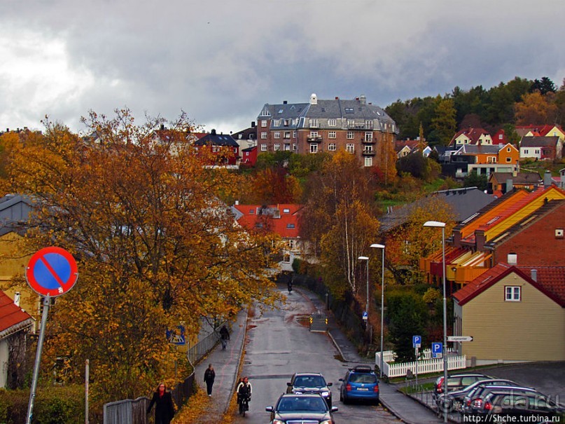
M 257 117 L 259 154 L 344 149 L 372 166 L 379 142 L 393 143 L 397 133 L 392 118 L 364 95 L 354 100 L 321 100 L 312 94 L 308 103 L 267 103 Z

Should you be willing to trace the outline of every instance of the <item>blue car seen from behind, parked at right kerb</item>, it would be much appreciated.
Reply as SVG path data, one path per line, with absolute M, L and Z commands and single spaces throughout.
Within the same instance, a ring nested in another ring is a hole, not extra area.
M 340 401 L 344 404 L 354 399 L 379 403 L 379 381 L 371 367 L 358 366 L 349 369 L 340 381 Z

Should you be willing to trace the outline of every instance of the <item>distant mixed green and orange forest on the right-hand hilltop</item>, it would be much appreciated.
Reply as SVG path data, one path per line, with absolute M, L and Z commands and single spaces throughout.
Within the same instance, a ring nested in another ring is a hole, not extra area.
M 485 90 L 482 86 L 455 87 L 443 97 L 397 100 L 385 111 L 396 121 L 398 139 L 423 137 L 430 145 L 447 145 L 463 128 L 503 129 L 518 142 L 515 125 L 559 124 L 565 121 L 565 78 L 559 89 L 544 76 L 533 81 L 516 77 Z

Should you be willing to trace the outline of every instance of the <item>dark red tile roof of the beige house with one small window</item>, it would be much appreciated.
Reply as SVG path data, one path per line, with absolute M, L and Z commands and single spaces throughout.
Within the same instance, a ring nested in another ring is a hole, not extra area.
M 545 294 L 545 296 L 558 303 L 559 306 L 565 308 L 565 267 L 540 267 L 540 269 L 542 268 L 552 268 L 552 270 L 547 271 L 547 273 L 545 271 L 542 271 L 541 273 L 538 272 L 537 281 L 533 281 L 529 277 L 528 273 L 524 272 L 528 269 L 531 270 L 531 268 L 517 268 L 516 266 L 510 266 L 501 262 L 490 268 L 489 271 L 482 273 L 479 277 L 469 282 L 462 289 L 455 292 L 453 297 L 460 306 L 463 306 L 468 301 L 475 299 L 476 296 L 487 290 L 489 287 L 492 287 L 506 275 L 515 273 L 524 281 L 529 282 L 529 284 L 533 285 L 533 287 L 536 287 L 536 289 Z M 547 280 L 545 280 L 545 278 L 547 278 Z

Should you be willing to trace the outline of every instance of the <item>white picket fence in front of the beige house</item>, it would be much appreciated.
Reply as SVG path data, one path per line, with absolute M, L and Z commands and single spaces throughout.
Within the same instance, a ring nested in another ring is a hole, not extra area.
M 448 349 L 449 353 L 450 350 Z M 443 371 L 443 359 L 431 359 L 431 350 L 426 349 L 422 353 L 424 359 L 418 362 L 402 362 L 398 364 L 389 364 L 392 362 L 396 354 L 392 350 L 386 350 L 383 352 L 383 364 L 382 364 L 382 374 L 385 376 L 392 377 L 402 377 L 408 374 L 408 370 L 412 371 L 412 374 L 428 374 L 434 372 Z M 375 353 L 375 364 L 380 367 L 381 364 L 381 353 Z M 447 370 L 450 369 L 465 369 L 467 367 L 467 357 L 447 355 Z

